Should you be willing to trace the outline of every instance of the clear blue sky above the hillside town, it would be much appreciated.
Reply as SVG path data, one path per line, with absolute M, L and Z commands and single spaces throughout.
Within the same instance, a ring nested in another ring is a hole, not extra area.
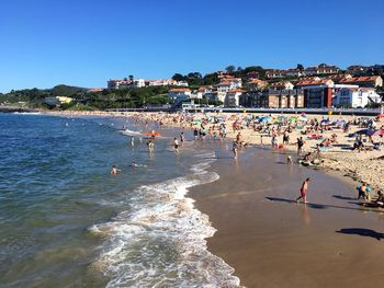
M 0 9 L 0 92 L 228 65 L 384 62 L 383 0 L 12 0 Z

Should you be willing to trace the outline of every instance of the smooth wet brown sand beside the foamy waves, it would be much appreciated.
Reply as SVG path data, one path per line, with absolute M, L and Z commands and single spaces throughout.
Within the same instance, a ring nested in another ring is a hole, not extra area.
M 228 150 L 215 150 L 212 170 L 221 178 L 194 187 L 191 196 L 218 230 L 210 251 L 235 268 L 241 285 L 383 285 L 384 214 L 359 206 L 351 182 L 287 165 L 286 155 L 270 150 L 250 148 L 237 161 Z M 296 204 L 307 176 L 312 204 Z

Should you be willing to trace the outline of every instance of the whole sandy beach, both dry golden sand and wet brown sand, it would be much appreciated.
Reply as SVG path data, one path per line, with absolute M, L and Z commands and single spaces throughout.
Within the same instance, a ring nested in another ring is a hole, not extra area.
M 161 122 L 166 126 L 184 128 L 190 139 L 192 129 L 199 127 L 200 120 L 206 117 L 193 115 L 185 118 L 183 115 L 151 113 L 88 115 Z M 363 127 L 351 125 L 345 133 L 341 127 L 329 126 L 329 130 L 321 131 L 321 139 L 331 138 L 335 134 L 337 141 L 321 151 L 317 165 L 306 168 L 296 163 L 289 165 L 286 158 L 290 154 L 296 162 L 295 141 L 298 137 L 305 141 L 303 154 L 316 149 L 316 143 L 323 140 L 313 139 L 314 133 L 303 135 L 301 131 L 309 126 L 310 119 L 320 120 L 324 116 L 308 116 L 307 122 L 301 124 L 304 128 L 294 128 L 290 133 L 290 145 L 283 149 L 271 147 L 270 135 L 246 126 L 246 118 L 251 115 L 208 116 L 225 118 L 228 139 L 235 139 L 240 133 L 241 140 L 251 145 L 239 149 L 239 159 L 236 161 L 230 151 L 230 141 L 212 141 L 212 149 L 217 157 L 212 170 L 221 177 L 191 192 L 196 199 L 196 207 L 210 216 L 213 227 L 217 229 L 216 234 L 208 239 L 210 251 L 235 268 L 241 285 L 380 286 L 384 280 L 384 247 L 381 241 L 384 239 L 384 209 L 369 208 L 363 206 L 364 201 L 358 201 L 355 186 L 361 181 L 368 182 L 374 195 L 377 189 L 384 188 L 381 181 L 383 160 L 380 160 L 384 153 L 383 150 L 352 151 L 354 138 L 348 136 Z M 330 123 L 354 119 L 340 115 L 325 117 Z M 233 130 L 234 122 L 242 128 Z M 214 125 L 204 124 L 206 129 Z M 381 125 L 377 123 L 379 127 Z M 217 129 L 218 125 L 215 126 Z M 270 126 L 273 127 L 273 124 Z M 279 141 L 281 138 L 279 135 Z M 373 141 L 380 140 L 373 137 Z M 365 137 L 364 146 L 372 147 Z M 301 183 L 306 177 L 312 180 L 308 193 L 310 204 L 296 204 Z

